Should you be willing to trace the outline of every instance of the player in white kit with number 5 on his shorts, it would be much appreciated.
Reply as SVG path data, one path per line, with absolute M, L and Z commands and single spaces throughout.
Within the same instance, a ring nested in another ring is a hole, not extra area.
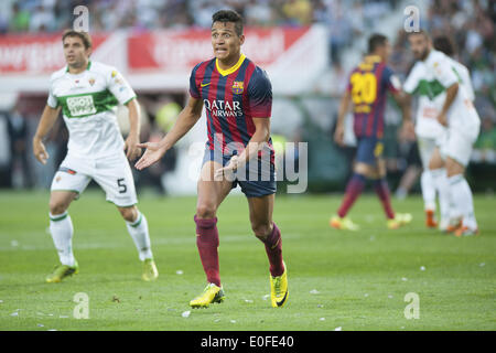
M 138 200 L 128 162 L 141 153 L 137 146 L 140 110 L 136 94 L 117 69 L 89 61 L 91 39 L 87 33 L 67 30 L 62 44 L 67 66 L 51 77 L 48 100 L 33 138 L 34 156 L 45 164 L 48 153 L 43 138 L 62 110 L 69 131 L 68 151 L 53 178 L 50 196 L 50 233 L 61 265 L 46 281 L 60 282 L 79 270 L 73 254 L 74 228 L 67 208 L 91 179 L 105 190 L 107 201 L 117 206 L 126 221 L 142 261 L 142 279 L 154 280 L 159 272 L 148 223 L 136 206 Z M 129 108 L 130 132 L 126 141 L 117 125 L 118 104 Z

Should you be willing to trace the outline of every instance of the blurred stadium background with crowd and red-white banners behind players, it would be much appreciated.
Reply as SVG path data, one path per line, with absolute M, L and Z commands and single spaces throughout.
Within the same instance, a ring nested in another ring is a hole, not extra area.
M 72 28 L 77 6 L 89 10 L 91 58 L 115 65 L 138 94 L 143 110 L 142 140 L 159 139 L 172 126 L 187 98 L 194 64 L 212 56 L 212 14 L 231 8 L 246 19 L 242 51 L 265 67 L 273 84 L 272 133 L 278 141 L 309 142 L 309 191 L 342 191 L 353 157 L 332 140 L 347 74 L 373 32 L 393 44 L 390 64 L 405 79 L 412 65 L 406 44 L 403 10 L 414 4 L 421 26 L 433 36 L 448 34 L 457 60 L 472 75 L 482 131 L 468 168 L 475 191 L 492 192 L 496 180 L 496 4 L 489 0 L 2 0 L 0 2 L 0 188 L 50 188 L 65 156 L 63 120 L 48 138 L 47 167 L 35 162 L 31 139 L 47 97 L 50 74 L 64 66 L 61 33 Z M 119 109 L 127 132 L 126 108 Z M 351 117 L 349 117 L 351 118 Z M 386 156 L 389 181 L 397 190 L 410 165 L 414 140 L 399 138 L 400 113 L 387 109 Z M 351 128 L 351 125 L 349 125 Z M 168 153 L 160 165 L 137 173 L 137 185 L 163 194 L 196 191 L 193 142 L 205 139 L 205 122 Z M 200 159 L 196 159 L 200 163 Z M 191 178 L 184 178 L 185 173 Z M 414 180 L 414 178 L 413 178 Z M 473 181 L 476 180 L 476 183 Z M 411 192 L 419 191 L 418 182 Z M 397 195 L 405 196 L 401 192 Z

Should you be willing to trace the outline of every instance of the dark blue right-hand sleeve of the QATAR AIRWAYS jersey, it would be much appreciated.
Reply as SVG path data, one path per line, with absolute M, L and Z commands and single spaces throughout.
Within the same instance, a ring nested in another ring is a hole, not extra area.
M 272 84 L 267 73 L 257 67 L 248 83 L 249 108 L 252 117 L 270 118 L 272 114 Z

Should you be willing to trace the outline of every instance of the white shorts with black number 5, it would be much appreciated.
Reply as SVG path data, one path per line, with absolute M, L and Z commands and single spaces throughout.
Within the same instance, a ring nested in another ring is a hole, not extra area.
M 99 159 L 67 154 L 53 178 L 51 191 L 73 191 L 79 196 L 91 179 L 116 206 L 129 207 L 138 203 L 131 168 L 123 152 Z

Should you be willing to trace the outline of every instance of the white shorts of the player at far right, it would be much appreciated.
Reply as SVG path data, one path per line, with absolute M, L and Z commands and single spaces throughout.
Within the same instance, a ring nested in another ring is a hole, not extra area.
M 463 167 L 468 165 L 471 160 L 472 149 L 478 136 L 478 126 L 472 131 L 460 131 L 450 128 L 448 130 L 446 140 L 441 146 L 441 157 L 445 159 L 450 157 Z

